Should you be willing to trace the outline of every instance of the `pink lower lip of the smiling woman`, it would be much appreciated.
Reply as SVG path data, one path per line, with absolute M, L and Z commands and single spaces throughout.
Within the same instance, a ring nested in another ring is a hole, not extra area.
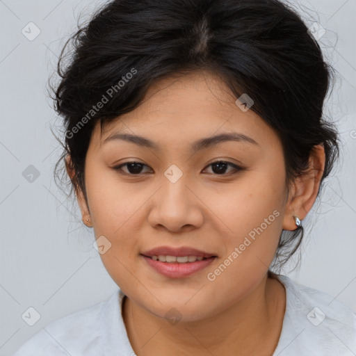
M 147 264 L 154 268 L 161 275 L 171 278 L 188 277 L 197 273 L 198 271 L 207 267 L 216 257 L 209 257 L 209 259 L 202 259 L 202 261 L 188 262 L 186 264 L 171 264 L 168 262 L 155 261 L 154 259 L 143 256 Z

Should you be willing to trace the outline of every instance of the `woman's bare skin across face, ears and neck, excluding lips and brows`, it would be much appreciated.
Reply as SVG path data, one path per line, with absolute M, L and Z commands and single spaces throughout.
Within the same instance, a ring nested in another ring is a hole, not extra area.
M 285 312 L 284 286 L 268 278 L 282 229 L 294 230 L 316 200 L 325 164 L 323 146 L 310 169 L 289 187 L 277 134 L 252 110 L 241 111 L 223 81 L 194 72 L 158 81 L 135 110 L 92 132 L 86 156 L 88 202 L 78 190 L 83 221 L 111 242 L 102 262 L 127 298 L 123 318 L 136 355 L 272 355 Z M 227 141 L 194 154 L 195 140 L 239 132 L 258 145 Z M 160 149 L 124 140 L 115 132 L 153 140 Z M 70 157 L 68 157 L 68 162 Z M 129 161 L 143 163 L 138 175 Z M 227 165 L 219 174 L 216 161 Z M 175 164 L 174 184 L 164 172 Z M 67 165 L 69 167 L 69 165 Z M 73 172 L 67 168 L 72 177 Z M 127 175 L 124 175 L 127 172 Z M 131 172 L 131 176 L 129 176 Z M 223 263 L 268 216 L 279 216 L 211 282 Z M 191 277 L 169 278 L 147 265 L 141 252 L 160 245 L 189 246 L 218 258 Z M 181 319 L 165 314 L 175 307 Z

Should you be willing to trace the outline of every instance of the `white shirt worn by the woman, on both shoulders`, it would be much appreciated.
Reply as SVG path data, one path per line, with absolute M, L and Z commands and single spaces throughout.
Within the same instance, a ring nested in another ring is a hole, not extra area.
M 326 293 L 278 275 L 286 288 L 273 356 L 355 356 L 356 314 Z M 134 356 L 122 319 L 124 293 L 49 323 L 13 356 Z

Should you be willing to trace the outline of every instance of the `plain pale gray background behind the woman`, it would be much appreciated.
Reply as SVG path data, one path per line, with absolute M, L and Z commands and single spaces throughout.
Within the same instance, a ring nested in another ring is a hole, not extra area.
M 117 289 L 92 248 L 92 229 L 54 183 L 61 148 L 50 131 L 58 121 L 47 97 L 47 79 L 79 13 L 85 18 L 102 2 L 0 0 L 0 356 L 11 355 L 50 321 Z M 307 24 L 326 30 L 318 42 L 339 74 L 325 115 L 337 122 L 343 145 L 321 200 L 303 222 L 302 266 L 284 274 L 356 312 L 356 1 L 300 3 L 309 8 L 302 13 Z M 32 41 L 22 34 L 29 22 L 40 29 Z M 29 165 L 40 174 L 32 181 L 23 175 L 33 170 Z M 29 307 L 40 314 L 33 326 L 22 319 Z

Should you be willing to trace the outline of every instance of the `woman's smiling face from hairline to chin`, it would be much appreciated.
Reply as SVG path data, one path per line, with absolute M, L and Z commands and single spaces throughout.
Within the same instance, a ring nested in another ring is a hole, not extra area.
M 156 316 L 172 307 L 186 321 L 222 312 L 261 282 L 275 255 L 287 199 L 282 144 L 235 100 L 207 72 L 164 79 L 138 108 L 92 133 L 88 207 L 79 204 L 90 211 L 95 238 L 104 236 L 108 273 Z M 211 140 L 232 133 L 248 139 Z M 142 136 L 152 147 L 119 134 Z M 144 257 L 162 246 L 205 258 L 169 266 Z

